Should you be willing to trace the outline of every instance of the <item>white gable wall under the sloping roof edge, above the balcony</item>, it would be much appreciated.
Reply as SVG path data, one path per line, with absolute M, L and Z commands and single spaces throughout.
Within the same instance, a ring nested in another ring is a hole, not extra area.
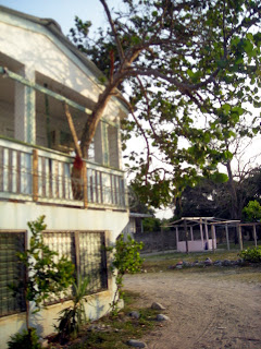
M 97 101 L 102 91 L 98 77 L 44 26 L 0 12 L 0 51 L 24 64 L 27 71 L 37 71 Z M 115 117 L 119 107 L 114 99 L 104 116 Z

